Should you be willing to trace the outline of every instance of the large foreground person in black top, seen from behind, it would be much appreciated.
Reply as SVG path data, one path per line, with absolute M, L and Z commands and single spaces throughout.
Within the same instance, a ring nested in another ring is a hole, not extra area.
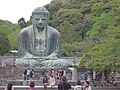
M 62 82 L 58 84 L 58 90 L 69 90 L 71 89 L 71 85 L 67 83 L 66 77 L 62 77 Z

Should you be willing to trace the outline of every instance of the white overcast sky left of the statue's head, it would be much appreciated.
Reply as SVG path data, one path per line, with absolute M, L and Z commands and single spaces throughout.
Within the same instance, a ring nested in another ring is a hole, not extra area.
M 0 0 L 0 19 L 17 23 L 17 21 L 23 17 L 28 21 L 32 11 L 36 7 L 42 7 L 51 1 L 52 0 Z

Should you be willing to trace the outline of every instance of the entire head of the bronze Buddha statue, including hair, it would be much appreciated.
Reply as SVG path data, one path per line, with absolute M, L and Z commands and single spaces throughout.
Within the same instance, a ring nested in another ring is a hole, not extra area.
M 49 12 L 44 7 L 37 7 L 32 12 L 32 24 L 40 29 L 44 29 L 48 25 Z

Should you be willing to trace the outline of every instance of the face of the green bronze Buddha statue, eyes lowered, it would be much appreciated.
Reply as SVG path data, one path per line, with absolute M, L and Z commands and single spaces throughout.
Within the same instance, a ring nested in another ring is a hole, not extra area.
M 37 28 L 44 28 L 48 24 L 47 14 L 34 14 L 32 18 L 32 23 Z

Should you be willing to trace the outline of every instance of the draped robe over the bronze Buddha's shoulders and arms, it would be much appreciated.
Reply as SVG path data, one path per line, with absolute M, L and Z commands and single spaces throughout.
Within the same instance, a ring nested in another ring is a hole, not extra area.
M 48 26 L 46 30 L 45 45 L 43 45 L 44 49 L 41 46 L 40 50 L 36 48 L 38 41 L 36 42 L 33 26 L 29 26 L 20 31 L 18 49 L 23 57 L 26 53 L 33 55 L 33 57 L 47 57 L 49 55 L 53 57 L 60 56 L 60 33 L 50 26 Z

